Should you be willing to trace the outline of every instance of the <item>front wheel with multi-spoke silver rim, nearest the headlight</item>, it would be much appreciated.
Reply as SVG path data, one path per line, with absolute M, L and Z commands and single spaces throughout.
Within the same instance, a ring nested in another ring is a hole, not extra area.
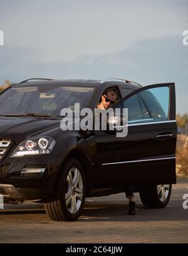
M 63 165 L 51 198 L 44 203 L 46 214 L 55 221 L 76 221 L 86 196 L 85 173 L 80 162 L 68 159 Z

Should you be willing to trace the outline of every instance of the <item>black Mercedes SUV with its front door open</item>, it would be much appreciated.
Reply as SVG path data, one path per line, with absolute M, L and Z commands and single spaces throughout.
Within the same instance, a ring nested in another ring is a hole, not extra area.
M 61 129 L 61 109 L 80 103 L 94 111 L 108 88 L 117 93 L 112 108 L 128 108 L 127 136 Z M 0 194 L 6 203 L 43 202 L 57 221 L 77 220 L 86 197 L 126 185 L 140 192 L 144 206 L 163 208 L 176 182 L 176 138 L 174 83 L 19 82 L 0 95 Z

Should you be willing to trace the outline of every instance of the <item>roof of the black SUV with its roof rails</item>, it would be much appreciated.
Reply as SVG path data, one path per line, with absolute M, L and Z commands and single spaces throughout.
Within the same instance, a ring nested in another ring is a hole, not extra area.
M 18 82 L 18 86 L 42 86 L 42 85 L 50 85 L 50 86 L 87 86 L 87 87 L 107 87 L 107 86 L 120 86 L 125 87 L 127 89 L 138 89 L 140 88 L 140 84 L 126 81 L 123 79 L 105 79 L 105 80 L 86 80 L 86 79 L 65 79 L 65 80 L 55 80 L 55 79 L 48 79 L 48 80 L 36 80 L 30 81 L 30 79 Z

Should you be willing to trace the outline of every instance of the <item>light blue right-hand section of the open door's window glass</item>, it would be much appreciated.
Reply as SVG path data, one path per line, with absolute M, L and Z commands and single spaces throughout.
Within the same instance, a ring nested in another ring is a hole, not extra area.
M 138 95 L 143 100 L 153 121 L 166 121 L 169 116 L 169 87 L 146 89 Z

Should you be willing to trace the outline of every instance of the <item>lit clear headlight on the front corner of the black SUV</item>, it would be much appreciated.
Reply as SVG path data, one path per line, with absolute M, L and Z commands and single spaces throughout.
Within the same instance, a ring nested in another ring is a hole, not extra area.
M 14 150 L 11 157 L 23 157 L 24 155 L 48 155 L 55 147 L 55 140 L 51 137 L 31 138 L 24 140 Z

